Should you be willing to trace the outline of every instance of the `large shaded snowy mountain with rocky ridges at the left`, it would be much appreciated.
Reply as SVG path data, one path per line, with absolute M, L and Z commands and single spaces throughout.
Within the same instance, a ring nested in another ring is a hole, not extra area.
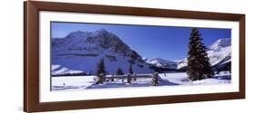
M 51 52 L 52 66 L 59 65 L 72 71 L 95 73 L 97 62 L 104 59 L 109 74 L 116 73 L 118 68 L 128 72 L 129 64 L 132 64 L 133 71 L 151 72 L 138 52 L 105 29 L 94 33 L 77 31 L 64 38 L 53 38 Z M 52 74 L 56 71 L 52 69 Z

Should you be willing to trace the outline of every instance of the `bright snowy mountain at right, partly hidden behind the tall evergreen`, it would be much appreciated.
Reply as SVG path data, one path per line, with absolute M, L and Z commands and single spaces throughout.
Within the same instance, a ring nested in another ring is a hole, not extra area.
M 221 67 L 230 64 L 231 59 L 231 41 L 230 38 L 222 38 L 211 44 L 208 48 L 208 57 L 213 67 Z M 187 58 L 178 62 L 178 69 L 188 65 Z

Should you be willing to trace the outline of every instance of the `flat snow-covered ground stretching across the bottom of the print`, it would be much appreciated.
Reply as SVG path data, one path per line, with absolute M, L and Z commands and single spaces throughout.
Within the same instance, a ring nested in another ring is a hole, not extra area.
M 231 82 L 229 72 L 220 72 L 214 78 L 205 80 L 190 81 L 186 72 L 179 73 L 161 73 L 159 74 L 159 86 L 172 85 L 213 85 L 227 84 Z M 52 77 L 52 90 L 82 90 L 82 89 L 102 89 L 102 88 L 125 88 L 125 87 L 149 87 L 152 86 L 151 78 L 140 78 L 132 80 L 109 80 L 104 84 L 95 84 L 95 76 L 78 76 L 78 77 Z

